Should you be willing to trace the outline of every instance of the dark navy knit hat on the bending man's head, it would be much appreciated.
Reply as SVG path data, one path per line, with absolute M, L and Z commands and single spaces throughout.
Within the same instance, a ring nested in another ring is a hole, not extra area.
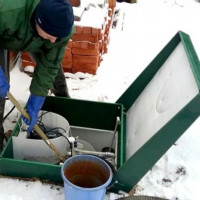
M 71 33 L 73 9 L 67 0 L 41 0 L 35 11 L 35 20 L 49 35 L 63 38 Z

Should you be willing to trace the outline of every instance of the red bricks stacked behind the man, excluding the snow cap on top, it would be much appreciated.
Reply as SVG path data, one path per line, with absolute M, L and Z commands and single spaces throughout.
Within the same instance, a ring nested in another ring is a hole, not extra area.
M 75 33 L 66 47 L 61 64 L 65 72 L 96 74 L 102 55 L 108 51 L 112 15 L 113 7 L 108 7 L 107 15 L 103 16 L 103 23 L 99 28 L 75 23 Z M 31 65 L 32 61 L 27 53 L 22 54 L 22 60 L 22 67 Z M 33 62 L 32 65 L 35 66 Z

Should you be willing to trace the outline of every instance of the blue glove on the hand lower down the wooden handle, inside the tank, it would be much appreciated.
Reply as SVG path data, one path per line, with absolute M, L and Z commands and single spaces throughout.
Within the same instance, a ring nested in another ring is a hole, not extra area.
M 38 119 L 38 113 L 40 109 L 42 108 L 42 105 L 45 101 L 45 97 L 35 96 L 33 94 L 30 95 L 27 103 L 27 109 L 26 112 L 30 116 L 30 120 L 26 119 L 22 116 L 23 121 L 29 125 L 28 133 L 30 133 L 33 130 L 34 125 L 37 122 Z

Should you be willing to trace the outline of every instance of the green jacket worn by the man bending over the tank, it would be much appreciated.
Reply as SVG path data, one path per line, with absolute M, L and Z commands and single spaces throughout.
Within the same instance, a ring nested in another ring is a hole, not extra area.
M 40 0 L 0 0 L 0 49 L 33 52 L 36 68 L 30 92 L 46 96 L 64 57 L 72 33 L 55 43 L 42 39 L 35 28 L 34 12 Z

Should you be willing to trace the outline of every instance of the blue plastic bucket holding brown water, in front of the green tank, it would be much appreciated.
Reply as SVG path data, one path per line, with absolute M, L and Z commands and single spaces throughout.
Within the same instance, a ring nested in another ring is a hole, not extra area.
M 65 200 L 103 200 L 113 177 L 110 166 L 93 155 L 76 155 L 67 159 L 61 175 Z

